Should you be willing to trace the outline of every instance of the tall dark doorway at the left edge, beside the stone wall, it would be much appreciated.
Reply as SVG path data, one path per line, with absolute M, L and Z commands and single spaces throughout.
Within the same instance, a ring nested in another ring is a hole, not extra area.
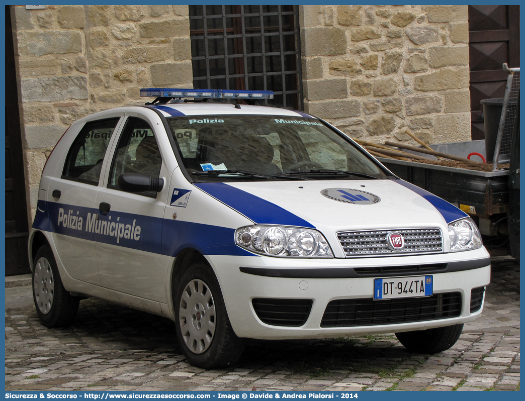
M 29 273 L 30 269 L 26 186 L 9 6 L 5 6 L 5 19 L 5 275 L 11 276 Z

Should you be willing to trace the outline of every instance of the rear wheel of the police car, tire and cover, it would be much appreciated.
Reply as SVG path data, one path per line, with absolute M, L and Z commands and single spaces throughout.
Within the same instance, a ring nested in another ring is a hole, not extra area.
M 71 324 L 80 300 L 64 289 L 48 245 L 38 249 L 33 266 L 33 300 L 40 320 L 49 328 Z

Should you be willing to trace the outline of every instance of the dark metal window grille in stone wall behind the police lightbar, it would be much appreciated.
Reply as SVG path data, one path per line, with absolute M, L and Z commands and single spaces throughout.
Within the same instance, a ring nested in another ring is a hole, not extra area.
M 190 6 L 194 88 L 272 90 L 302 110 L 298 20 L 297 6 Z

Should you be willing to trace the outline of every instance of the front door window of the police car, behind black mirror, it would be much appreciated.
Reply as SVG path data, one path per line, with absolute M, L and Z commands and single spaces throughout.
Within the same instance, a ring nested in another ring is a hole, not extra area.
M 122 173 L 158 177 L 161 166 L 162 157 L 151 126 L 144 120 L 129 118 L 111 163 L 108 187 L 117 188 Z

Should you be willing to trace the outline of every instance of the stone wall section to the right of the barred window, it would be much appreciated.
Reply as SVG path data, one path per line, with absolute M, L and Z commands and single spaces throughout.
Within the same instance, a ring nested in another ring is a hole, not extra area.
M 353 138 L 470 140 L 467 6 L 302 6 L 305 111 Z

